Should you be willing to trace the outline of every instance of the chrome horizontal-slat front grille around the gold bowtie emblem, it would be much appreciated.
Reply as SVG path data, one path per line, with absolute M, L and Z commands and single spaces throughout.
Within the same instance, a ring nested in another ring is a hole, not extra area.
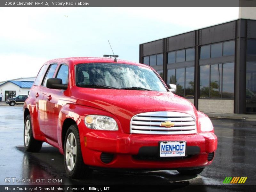
M 162 122 L 171 121 L 173 127 L 161 127 Z M 186 114 L 172 111 L 157 111 L 140 113 L 132 117 L 131 133 L 140 134 L 194 134 L 196 133 L 195 119 Z

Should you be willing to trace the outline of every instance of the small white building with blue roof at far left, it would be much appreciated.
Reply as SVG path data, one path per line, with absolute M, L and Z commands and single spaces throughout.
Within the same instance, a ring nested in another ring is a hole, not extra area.
M 3 95 L 2 101 L 18 95 L 28 95 L 35 79 L 36 77 L 27 77 L 0 82 L 0 93 Z

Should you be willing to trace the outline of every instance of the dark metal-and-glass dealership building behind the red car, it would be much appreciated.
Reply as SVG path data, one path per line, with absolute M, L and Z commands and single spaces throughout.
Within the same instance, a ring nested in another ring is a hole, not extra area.
M 140 44 L 140 63 L 203 112 L 256 114 L 256 20 L 238 19 Z

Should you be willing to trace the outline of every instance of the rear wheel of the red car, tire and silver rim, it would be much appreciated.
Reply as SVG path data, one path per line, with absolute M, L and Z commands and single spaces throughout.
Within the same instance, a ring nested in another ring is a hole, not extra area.
M 42 148 L 42 141 L 35 140 L 32 132 L 32 124 L 30 115 L 26 117 L 25 125 L 24 125 L 24 147 L 28 152 L 38 152 Z

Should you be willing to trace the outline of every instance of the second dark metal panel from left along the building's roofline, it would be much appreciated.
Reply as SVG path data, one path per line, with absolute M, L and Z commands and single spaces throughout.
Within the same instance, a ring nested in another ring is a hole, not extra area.
M 195 31 L 167 38 L 167 51 L 186 49 L 195 46 Z

